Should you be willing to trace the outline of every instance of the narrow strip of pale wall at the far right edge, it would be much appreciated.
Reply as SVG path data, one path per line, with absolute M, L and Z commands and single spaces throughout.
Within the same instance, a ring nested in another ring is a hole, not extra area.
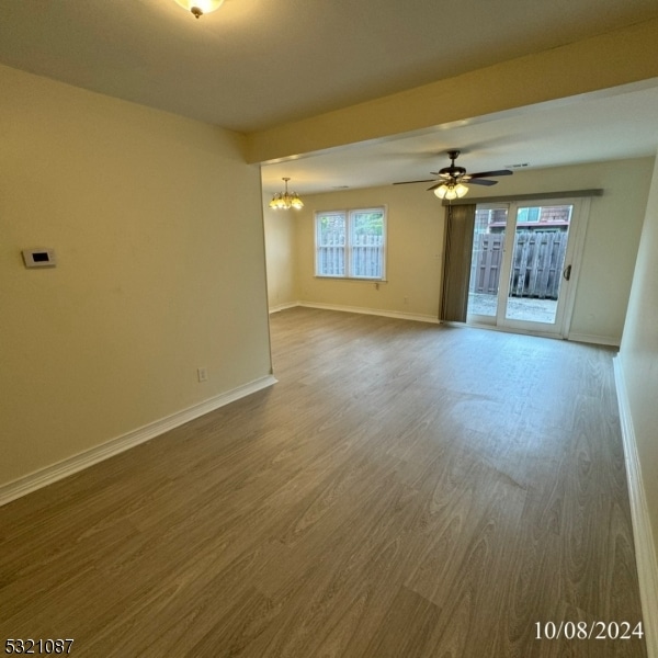
M 620 363 L 658 555 L 658 167 L 637 254 Z

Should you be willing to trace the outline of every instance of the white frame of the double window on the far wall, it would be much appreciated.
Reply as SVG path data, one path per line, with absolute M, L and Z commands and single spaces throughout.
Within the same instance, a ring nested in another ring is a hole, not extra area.
M 379 249 L 379 276 L 356 276 L 353 274 L 354 269 L 354 247 L 353 243 L 353 222 L 354 217 L 359 214 L 364 213 L 382 213 L 382 243 L 378 246 Z M 324 274 L 319 271 L 320 269 L 320 218 L 328 215 L 340 215 L 344 219 L 344 245 L 338 246 L 343 251 L 343 263 L 344 274 Z M 367 207 L 354 207 L 354 208 L 338 208 L 327 211 L 315 211 L 314 212 L 314 272 L 317 279 L 332 279 L 339 281 L 368 281 L 375 283 L 382 283 L 386 281 L 386 261 L 387 261 L 387 245 L 388 245 L 388 207 L 385 204 L 367 206 Z

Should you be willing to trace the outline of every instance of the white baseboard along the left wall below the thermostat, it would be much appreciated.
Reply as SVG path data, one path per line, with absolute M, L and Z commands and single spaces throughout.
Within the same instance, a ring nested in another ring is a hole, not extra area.
M 140 443 L 145 443 L 150 439 L 155 439 L 156 436 L 159 436 L 169 430 L 194 420 L 200 416 L 204 416 L 205 413 L 214 411 L 215 409 L 219 409 L 219 407 L 224 407 L 240 398 L 251 395 L 257 390 L 262 390 L 263 388 L 272 386 L 273 384 L 276 384 L 276 379 L 272 375 L 266 375 L 265 377 L 261 377 L 260 379 L 256 379 L 254 382 L 250 382 L 249 384 L 245 384 L 243 386 L 239 386 L 238 388 L 234 388 L 232 390 L 223 393 L 222 395 L 200 402 L 198 405 L 194 405 L 193 407 L 183 409 L 182 411 L 178 411 L 171 416 L 161 418 L 160 420 L 156 420 L 155 422 L 133 430 L 127 434 L 123 434 L 122 436 L 112 439 L 106 443 L 87 450 L 83 453 L 68 457 L 63 462 L 41 468 L 39 470 L 21 477 L 18 480 L 1 485 L 0 506 L 7 504 L 8 502 L 15 500 L 16 498 L 21 498 L 31 491 L 41 489 L 42 487 L 47 487 L 48 485 L 68 477 L 73 473 L 78 473 L 79 470 L 88 468 L 93 464 L 98 464 L 103 460 L 113 457 L 118 453 L 129 450 L 131 447 L 135 447 Z

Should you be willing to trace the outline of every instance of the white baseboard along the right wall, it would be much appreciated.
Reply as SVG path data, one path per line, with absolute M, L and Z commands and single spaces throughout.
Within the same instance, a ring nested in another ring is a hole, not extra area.
M 637 563 L 647 656 L 648 658 L 658 658 L 658 560 L 656 559 L 656 545 L 651 533 L 651 522 L 642 480 L 642 469 L 637 455 L 637 443 L 628 405 L 624 372 L 619 356 L 615 356 L 613 363 L 622 438 L 624 441 L 624 456 L 626 457 L 628 498 L 633 518 L 635 560 Z

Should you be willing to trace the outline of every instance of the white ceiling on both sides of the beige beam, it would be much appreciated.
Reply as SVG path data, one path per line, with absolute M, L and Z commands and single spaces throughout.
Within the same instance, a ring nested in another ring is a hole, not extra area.
M 0 63 L 251 132 L 651 18 L 656 0 L 225 0 L 200 20 L 173 0 L 0 0 Z M 657 86 L 268 166 L 263 186 L 424 179 L 449 148 L 470 171 L 654 155 Z

